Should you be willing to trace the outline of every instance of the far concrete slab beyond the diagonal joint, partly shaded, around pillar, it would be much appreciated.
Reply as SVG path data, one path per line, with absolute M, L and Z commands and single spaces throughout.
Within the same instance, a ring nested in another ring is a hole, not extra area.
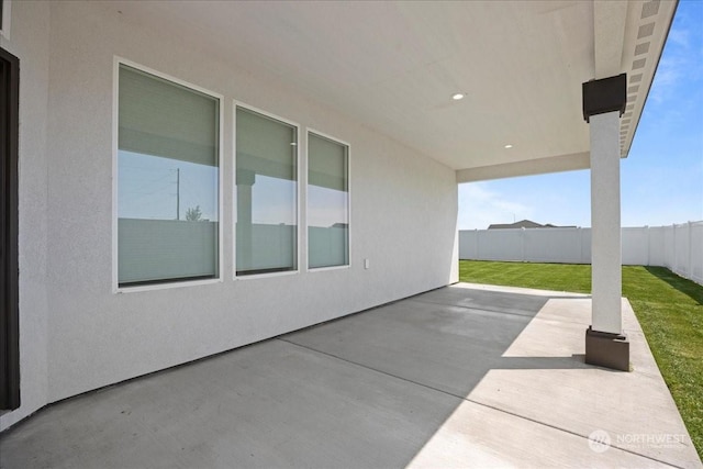
M 591 301 L 563 292 L 458 284 L 286 339 L 587 442 L 601 432 L 612 447 L 701 467 L 639 323 L 622 305 L 632 372 L 583 362 Z

